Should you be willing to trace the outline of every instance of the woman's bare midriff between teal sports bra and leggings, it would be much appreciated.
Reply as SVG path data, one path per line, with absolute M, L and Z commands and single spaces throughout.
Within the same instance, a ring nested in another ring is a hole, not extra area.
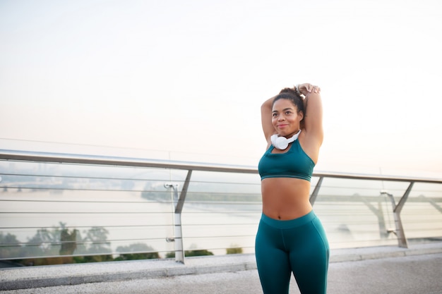
M 311 212 L 310 182 L 299 178 L 265 178 L 261 181 L 263 214 L 286 221 Z

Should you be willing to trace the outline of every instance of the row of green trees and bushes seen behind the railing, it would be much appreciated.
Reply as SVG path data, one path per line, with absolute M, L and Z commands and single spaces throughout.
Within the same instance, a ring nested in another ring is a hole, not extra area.
M 66 223 L 61 223 L 58 227 L 41 228 L 37 230 L 32 238 L 28 238 L 28 243 L 20 245 L 16 235 L 0 233 L 0 257 L 23 257 L 23 256 L 55 256 L 42 258 L 22 259 L 23 265 L 48 265 L 48 264 L 70 264 L 85 262 L 110 262 L 119 260 L 136 259 L 160 259 L 158 252 L 153 247 L 145 243 L 135 243 L 127 246 L 117 247 L 117 252 L 121 252 L 116 258 L 110 254 L 112 249 L 107 240 L 109 231 L 102 227 L 92 227 L 88 231 L 83 231 L 82 238 L 80 231 L 76 228 L 66 227 Z M 10 244 L 10 246 L 8 246 Z M 208 250 L 198 250 L 196 245 L 191 245 L 190 250 L 186 250 L 186 257 L 196 257 L 213 255 Z M 227 254 L 242 253 L 239 247 L 227 249 Z M 72 257 L 71 255 L 77 255 Z M 166 258 L 174 258 L 175 252 L 168 252 Z

